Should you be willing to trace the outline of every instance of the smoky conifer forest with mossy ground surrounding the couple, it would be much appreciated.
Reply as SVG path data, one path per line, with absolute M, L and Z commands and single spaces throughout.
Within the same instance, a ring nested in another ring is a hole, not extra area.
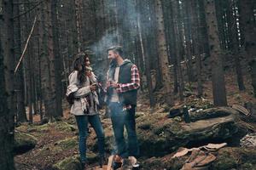
M 255 0 L 0 0 L 0 169 L 85 169 L 69 75 L 88 54 L 107 88 L 115 45 L 140 75 L 139 168 L 119 169 L 197 169 L 193 148 L 214 157 L 204 169 L 255 169 Z M 115 138 L 103 104 L 107 165 Z M 86 169 L 101 169 L 96 141 L 90 125 Z

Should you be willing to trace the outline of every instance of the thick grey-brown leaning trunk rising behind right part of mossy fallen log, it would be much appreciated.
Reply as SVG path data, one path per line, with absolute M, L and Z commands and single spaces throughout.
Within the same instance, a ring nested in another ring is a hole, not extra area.
M 212 94 L 216 106 L 227 105 L 222 54 L 218 38 L 218 22 L 214 0 L 205 0 L 207 30 L 212 59 Z

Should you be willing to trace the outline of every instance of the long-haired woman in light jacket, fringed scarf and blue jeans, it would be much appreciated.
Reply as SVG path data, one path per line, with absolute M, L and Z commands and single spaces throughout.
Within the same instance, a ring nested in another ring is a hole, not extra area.
M 71 113 L 75 116 L 79 127 L 79 153 L 82 165 L 86 166 L 86 138 L 88 122 L 96 132 L 99 163 L 102 167 L 104 161 L 104 133 L 102 122 L 97 111 L 99 104 L 96 94 L 97 82 L 96 76 L 90 69 L 90 60 L 88 54 L 79 53 L 73 63 L 73 72 L 69 75 L 69 86 L 67 87 L 67 96 L 73 94 L 73 105 Z

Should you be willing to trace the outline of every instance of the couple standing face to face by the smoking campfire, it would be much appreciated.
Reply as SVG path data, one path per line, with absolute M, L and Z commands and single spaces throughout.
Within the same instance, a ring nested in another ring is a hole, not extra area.
M 116 145 L 116 155 L 125 159 L 128 156 L 137 157 L 135 107 L 137 105 L 137 89 L 140 87 L 140 77 L 137 66 L 129 59 L 123 59 L 120 46 L 108 48 L 108 59 L 111 59 L 107 74 L 107 104 L 113 127 Z M 88 54 L 78 54 L 73 64 L 73 72 L 69 75 L 67 96 L 73 95 L 71 113 L 75 116 L 79 127 L 79 153 L 84 167 L 86 167 L 86 138 L 88 122 L 94 128 L 99 150 L 99 164 L 105 161 L 104 132 L 99 117 L 99 105 L 96 93 L 96 76 L 90 69 Z M 127 144 L 124 128 L 128 134 Z

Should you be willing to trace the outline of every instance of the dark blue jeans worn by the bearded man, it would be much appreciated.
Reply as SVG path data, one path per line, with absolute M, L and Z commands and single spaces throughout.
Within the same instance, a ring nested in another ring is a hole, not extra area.
M 130 110 L 123 111 L 123 106 L 120 103 L 112 102 L 109 104 L 111 111 L 111 121 L 117 153 L 121 157 L 138 156 L 138 144 L 135 122 L 135 106 Z M 128 134 L 128 148 L 125 143 L 124 127 Z

